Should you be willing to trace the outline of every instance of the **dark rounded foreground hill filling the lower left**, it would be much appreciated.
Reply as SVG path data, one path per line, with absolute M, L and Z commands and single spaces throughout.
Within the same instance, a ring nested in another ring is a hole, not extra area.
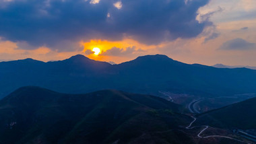
M 181 106 L 104 90 L 59 94 L 22 87 L 0 101 L 0 143 L 195 143 Z

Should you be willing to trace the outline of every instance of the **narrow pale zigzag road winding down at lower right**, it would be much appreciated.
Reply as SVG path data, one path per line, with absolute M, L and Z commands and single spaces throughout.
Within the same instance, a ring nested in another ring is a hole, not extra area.
M 189 126 L 186 127 L 186 129 L 194 129 L 194 128 L 196 128 L 196 127 L 191 127 L 191 126 L 192 126 L 192 124 L 197 120 L 197 118 L 195 118 L 194 116 L 191 116 L 191 118 L 193 118 L 193 121 L 190 122 Z M 223 136 L 223 135 L 209 135 L 209 136 L 203 137 L 203 136 L 201 136 L 201 134 L 202 134 L 204 131 L 206 131 L 206 130 L 209 128 L 209 126 L 203 125 L 203 126 L 197 126 L 197 127 L 205 127 L 205 128 L 204 128 L 203 130 L 201 130 L 201 131 L 198 133 L 198 135 L 197 135 L 197 137 L 199 137 L 199 138 L 201 138 L 201 139 L 207 139 L 207 138 L 210 138 L 210 137 L 219 137 L 219 138 L 226 138 L 226 139 L 232 139 L 232 140 L 235 140 L 235 141 L 240 141 L 240 142 L 242 142 L 242 143 L 247 143 L 247 142 L 245 142 L 245 141 L 241 141 L 241 140 L 239 140 L 239 139 L 234 139 L 234 138 L 232 138 L 232 137 L 226 137 L 226 136 Z M 251 143 L 247 143 L 247 144 L 251 144 Z

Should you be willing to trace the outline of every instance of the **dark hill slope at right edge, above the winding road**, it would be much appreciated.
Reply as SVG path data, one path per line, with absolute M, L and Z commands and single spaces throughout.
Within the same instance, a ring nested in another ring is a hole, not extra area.
M 197 122 L 214 127 L 256 129 L 256 98 L 200 114 Z

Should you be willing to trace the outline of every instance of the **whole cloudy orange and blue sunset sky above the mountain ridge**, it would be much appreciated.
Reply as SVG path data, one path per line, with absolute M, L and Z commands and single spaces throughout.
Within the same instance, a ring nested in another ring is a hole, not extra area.
M 78 54 L 256 66 L 256 1 L 0 0 L 0 61 Z

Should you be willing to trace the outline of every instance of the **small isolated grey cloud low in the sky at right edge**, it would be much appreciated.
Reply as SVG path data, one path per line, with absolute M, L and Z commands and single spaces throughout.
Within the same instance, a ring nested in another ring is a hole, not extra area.
M 220 49 L 222 50 L 249 50 L 253 48 L 256 48 L 255 43 L 247 42 L 242 38 L 228 40 L 227 42 L 224 42 L 222 46 L 220 46 Z

